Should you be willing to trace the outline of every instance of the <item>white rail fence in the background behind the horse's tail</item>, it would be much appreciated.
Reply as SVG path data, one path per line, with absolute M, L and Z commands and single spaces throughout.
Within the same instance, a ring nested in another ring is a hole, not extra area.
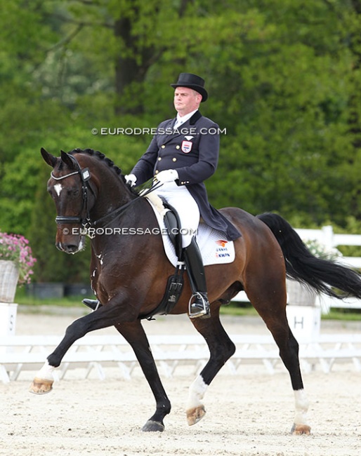
M 296 229 L 296 232 L 303 241 L 315 240 L 324 244 L 327 250 L 338 248 L 339 246 L 361 246 L 361 234 L 334 234 L 331 225 L 322 229 Z M 355 269 L 361 269 L 361 257 L 340 257 L 339 262 Z M 249 302 L 249 299 L 241 291 L 233 298 L 234 301 Z M 332 307 L 339 309 L 361 309 L 361 300 L 350 297 L 346 300 L 337 300 L 334 297 L 320 295 L 316 298 L 316 306 L 321 307 L 322 313 L 328 314 Z

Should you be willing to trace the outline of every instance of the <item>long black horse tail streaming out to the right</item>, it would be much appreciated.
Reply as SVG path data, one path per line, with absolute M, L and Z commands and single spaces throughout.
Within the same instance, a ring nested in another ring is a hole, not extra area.
M 306 283 L 317 293 L 339 299 L 347 296 L 361 298 L 360 274 L 333 260 L 312 255 L 300 236 L 280 215 L 265 213 L 257 215 L 257 218 L 270 228 L 280 244 L 286 263 L 286 274 L 290 279 Z M 335 293 L 331 287 L 338 288 L 344 294 Z

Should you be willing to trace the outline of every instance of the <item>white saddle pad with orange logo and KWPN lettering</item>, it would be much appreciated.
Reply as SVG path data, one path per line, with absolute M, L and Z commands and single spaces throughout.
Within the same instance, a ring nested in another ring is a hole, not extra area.
M 149 199 L 147 199 L 147 201 L 155 211 L 159 229 L 161 229 L 162 232 L 166 232 L 163 216 L 159 213 L 159 210 L 157 210 L 152 201 Z M 209 266 L 210 264 L 232 263 L 235 260 L 234 242 L 226 241 L 221 232 L 218 232 L 216 229 L 209 227 L 207 224 L 199 224 L 196 239 L 199 250 L 202 253 L 204 266 Z M 162 236 L 162 240 L 166 256 L 168 257 L 171 264 L 176 267 L 178 258 L 176 256 L 176 251 L 173 247 L 171 239 L 169 239 L 168 235 L 164 234 Z

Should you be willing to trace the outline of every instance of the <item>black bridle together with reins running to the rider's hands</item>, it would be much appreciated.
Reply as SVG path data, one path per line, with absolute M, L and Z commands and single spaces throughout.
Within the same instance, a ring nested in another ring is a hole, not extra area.
M 123 206 L 120 206 L 119 208 L 112 210 L 112 212 L 107 213 L 103 217 L 100 217 L 98 220 L 95 220 L 92 222 L 91 217 L 90 217 L 90 209 L 88 208 L 88 191 L 90 190 L 91 193 L 93 194 L 93 196 L 96 196 L 96 194 L 88 182 L 91 179 L 91 173 L 88 168 L 81 169 L 79 162 L 77 161 L 77 159 L 74 156 L 72 156 L 72 155 L 69 155 L 69 156 L 71 157 L 72 161 L 74 161 L 74 164 L 77 166 L 78 169 L 76 171 L 74 171 L 73 173 L 69 173 L 69 174 L 66 174 L 66 175 L 60 176 L 60 177 L 55 177 L 55 175 L 53 174 L 53 171 L 52 171 L 51 177 L 55 180 L 63 180 L 72 175 L 78 174 L 80 176 L 80 178 L 81 178 L 81 196 L 82 196 L 81 211 L 80 211 L 80 215 L 74 215 L 74 216 L 58 215 L 57 217 L 55 217 L 55 222 L 57 224 L 79 223 L 79 224 L 81 224 L 81 226 L 84 229 L 96 227 L 96 226 L 98 226 L 98 224 L 100 224 L 100 222 L 103 222 L 104 220 L 106 220 L 109 217 L 112 217 L 112 219 L 113 219 L 114 217 L 121 215 L 135 201 L 137 201 L 140 198 L 143 198 L 150 192 L 154 192 L 155 189 L 162 186 L 162 184 L 160 182 L 157 182 L 157 184 L 152 185 L 153 179 L 148 180 L 147 182 L 145 182 L 145 184 L 143 185 L 143 189 L 140 191 L 140 193 L 138 194 L 138 196 L 136 196 L 135 199 L 132 199 L 128 203 L 124 204 Z M 152 185 L 152 187 L 146 188 L 147 185 Z M 81 216 L 81 213 L 83 213 L 84 210 L 86 213 L 86 217 Z M 110 222 L 111 221 L 112 220 L 110 220 Z M 108 222 L 107 224 L 110 224 L 110 222 Z M 107 224 L 105 224 L 104 226 L 107 227 Z M 93 236 L 91 236 L 91 237 L 93 237 Z

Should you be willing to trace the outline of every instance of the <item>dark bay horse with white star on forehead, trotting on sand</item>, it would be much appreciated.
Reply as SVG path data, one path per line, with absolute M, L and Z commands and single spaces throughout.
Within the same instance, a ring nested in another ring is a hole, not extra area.
M 106 226 L 118 230 L 136 227 L 144 234 L 96 234 L 92 237 L 91 286 L 103 305 L 70 324 L 63 340 L 34 378 L 30 391 L 35 394 L 51 391 L 53 370 L 60 366 L 71 345 L 90 331 L 114 326 L 133 348 L 155 396 L 155 413 L 147 420 L 143 431 L 163 431 L 164 417 L 170 413 L 171 403 L 142 326 L 143 316 L 150 314 L 161 302 L 166 280 L 174 269 L 164 253 L 160 234 L 152 234 L 152 229 L 157 227 L 155 213 L 145 198 L 137 196 L 126 185 L 121 170 L 104 154 L 92 149 L 62 151 L 60 157 L 41 149 L 41 154 L 53 168 L 48 192 L 58 213 L 56 246 L 60 250 L 79 252 L 84 246 L 86 227 Z M 206 389 L 235 352 L 235 344 L 221 324 L 219 309 L 244 290 L 272 333 L 291 377 L 295 398 L 291 432 L 310 434 L 298 343 L 286 316 L 286 274 L 307 283 L 317 292 L 340 297 L 331 288 L 336 287 L 346 295 L 361 298 L 360 276 L 348 267 L 311 255 L 280 215 L 267 213 L 255 217 L 239 208 L 223 208 L 221 212 L 242 236 L 235 241 L 232 263 L 205 268 L 211 316 L 191 321 L 206 340 L 210 357 L 190 386 L 186 411 L 188 424 L 195 424 L 204 416 L 202 399 Z M 187 313 L 191 294 L 185 274 L 183 293 L 171 314 Z

